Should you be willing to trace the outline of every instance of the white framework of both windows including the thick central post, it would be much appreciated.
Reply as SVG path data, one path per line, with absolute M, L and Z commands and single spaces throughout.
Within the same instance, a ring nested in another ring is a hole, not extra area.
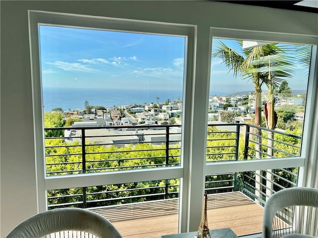
M 183 127 L 181 166 L 155 170 L 120 171 L 98 174 L 46 177 L 44 163 L 43 105 L 39 57 L 38 24 L 67 25 L 87 29 L 186 36 L 183 85 Z M 179 232 L 195 231 L 201 218 L 205 175 L 275 168 L 300 167 L 299 184 L 304 184 L 304 168 L 315 132 L 315 115 L 305 117 L 300 157 L 206 164 L 208 98 L 211 70 L 212 38 L 246 39 L 314 45 L 307 94 L 306 115 L 315 112 L 317 103 L 317 36 L 303 36 L 238 29 L 197 28 L 194 25 L 170 24 L 120 18 L 84 16 L 29 10 L 29 38 L 34 112 L 38 211 L 47 209 L 46 191 L 51 189 L 126 183 L 157 179 L 180 179 Z M 184 129 L 186 128 L 186 130 Z M 316 131 L 317 132 L 317 131 Z M 317 142 L 317 140 L 315 140 Z M 311 156 L 312 157 L 312 156 Z M 202 159 L 203 158 L 203 159 Z M 107 183 L 105 183 L 107 181 Z M 191 214 L 191 215 L 190 215 Z

